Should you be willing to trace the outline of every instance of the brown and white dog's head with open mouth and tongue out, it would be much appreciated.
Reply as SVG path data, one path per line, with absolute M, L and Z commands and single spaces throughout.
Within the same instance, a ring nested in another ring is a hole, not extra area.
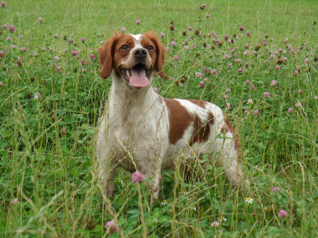
M 131 35 L 115 32 L 99 49 L 102 65 L 100 76 L 106 79 L 113 73 L 135 87 L 147 87 L 153 72 L 166 79 L 163 72 L 165 47 L 153 32 Z

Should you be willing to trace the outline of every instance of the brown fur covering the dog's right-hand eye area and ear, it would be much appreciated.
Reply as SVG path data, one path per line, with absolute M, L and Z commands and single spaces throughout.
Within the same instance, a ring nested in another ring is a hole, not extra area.
M 151 46 L 153 46 L 152 44 L 155 45 L 154 49 L 156 51 L 155 52 L 148 51 L 148 53 L 152 61 L 155 59 L 156 71 L 159 73 L 160 77 L 163 80 L 166 80 L 167 75 L 163 71 L 165 54 L 166 54 L 166 47 L 164 46 L 164 44 L 159 40 L 159 38 L 152 31 L 142 34 L 141 44 L 142 44 L 142 47 L 144 47 L 145 49 L 147 49 L 147 46 L 149 45 Z

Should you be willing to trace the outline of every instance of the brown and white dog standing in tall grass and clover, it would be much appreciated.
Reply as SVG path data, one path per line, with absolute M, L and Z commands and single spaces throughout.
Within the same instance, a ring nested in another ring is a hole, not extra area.
M 153 32 L 116 32 L 98 49 L 100 76 L 106 79 L 112 75 L 96 144 L 106 196 L 114 197 L 113 181 L 120 165 L 152 177 L 149 191 L 157 199 L 162 169 L 176 169 L 175 158 L 181 152 L 218 152 L 226 179 L 239 190 L 248 190 L 239 139 L 225 113 L 203 100 L 163 98 L 151 86 L 155 73 L 163 80 L 167 77 L 163 71 L 165 49 Z

